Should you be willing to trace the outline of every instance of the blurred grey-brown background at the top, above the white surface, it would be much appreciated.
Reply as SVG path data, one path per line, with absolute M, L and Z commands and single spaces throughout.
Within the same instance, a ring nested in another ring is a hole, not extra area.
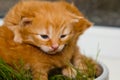
M 19 0 L 0 0 L 0 17 Z M 120 0 L 67 0 L 96 25 L 120 27 Z

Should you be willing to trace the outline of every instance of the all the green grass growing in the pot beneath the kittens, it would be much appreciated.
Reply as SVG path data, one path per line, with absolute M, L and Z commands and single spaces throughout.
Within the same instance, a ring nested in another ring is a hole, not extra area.
M 0 80 L 32 80 L 32 74 L 30 70 L 24 70 L 24 63 L 20 61 L 20 66 L 15 65 L 15 69 L 7 65 L 2 59 L 0 59 Z M 70 79 L 61 75 L 60 70 L 56 69 L 51 71 L 49 80 L 94 80 L 95 71 L 93 65 L 89 60 L 85 60 L 85 64 L 88 67 L 87 71 L 80 71 L 76 69 L 77 76 L 75 79 Z M 71 66 L 72 67 L 72 66 Z M 56 73 L 57 72 L 57 73 Z

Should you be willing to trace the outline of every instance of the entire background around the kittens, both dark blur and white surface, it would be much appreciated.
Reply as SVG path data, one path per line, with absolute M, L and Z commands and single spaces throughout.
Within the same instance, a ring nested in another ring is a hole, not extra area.
M 0 0 L 0 24 L 8 10 L 19 0 Z M 120 0 L 67 0 L 95 25 L 78 40 L 81 52 L 107 65 L 109 80 L 120 80 Z M 34 5 L 33 5 L 34 6 Z

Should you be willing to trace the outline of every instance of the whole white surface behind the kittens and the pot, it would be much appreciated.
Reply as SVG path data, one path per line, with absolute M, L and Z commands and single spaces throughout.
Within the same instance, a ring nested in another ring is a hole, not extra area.
M 94 58 L 99 48 L 98 60 L 109 68 L 109 80 L 120 80 L 120 28 L 92 27 L 80 37 L 78 46 L 82 53 Z

